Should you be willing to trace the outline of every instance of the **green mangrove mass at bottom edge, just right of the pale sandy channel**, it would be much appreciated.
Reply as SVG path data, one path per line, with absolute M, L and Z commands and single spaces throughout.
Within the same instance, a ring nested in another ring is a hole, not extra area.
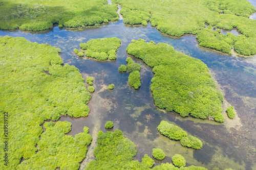
M 120 130 L 103 133 L 99 131 L 97 148 L 94 149 L 96 160 L 92 160 L 87 166 L 88 169 L 150 169 L 154 161 L 144 155 L 142 162 L 134 161 L 136 145 L 129 139 L 123 137 Z

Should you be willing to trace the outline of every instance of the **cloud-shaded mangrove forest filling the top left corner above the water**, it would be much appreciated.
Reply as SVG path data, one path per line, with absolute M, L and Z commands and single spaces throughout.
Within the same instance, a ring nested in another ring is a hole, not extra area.
M 116 5 L 105 0 L 2 1 L 0 29 L 47 30 L 54 23 L 68 28 L 93 26 L 118 20 Z

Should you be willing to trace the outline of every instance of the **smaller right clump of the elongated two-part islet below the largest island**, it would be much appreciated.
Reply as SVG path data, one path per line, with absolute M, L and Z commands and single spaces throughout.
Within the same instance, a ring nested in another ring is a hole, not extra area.
M 181 145 L 183 145 L 183 147 L 188 147 L 188 148 L 193 148 L 196 150 L 199 150 L 203 147 L 202 141 L 200 139 L 198 139 L 197 137 L 188 135 L 186 137 L 183 137 L 180 140 Z

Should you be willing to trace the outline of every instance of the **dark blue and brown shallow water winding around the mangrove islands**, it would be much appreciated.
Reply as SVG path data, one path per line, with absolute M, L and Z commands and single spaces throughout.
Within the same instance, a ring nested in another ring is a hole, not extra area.
M 59 29 L 31 31 L 2 31 L 0 36 L 25 37 L 27 40 L 38 43 L 49 43 L 60 47 L 60 54 L 65 64 L 79 68 L 86 79 L 94 78 L 95 92 L 92 94 L 88 106 L 90 115 L 86 118 L 61 117 L 59 120 L 68 120 L 72 123 L 72 130 L 68 135 L 75 135 L 83 131 L 83 127 L 90 129 L 93 141 L 89 147 L 87 157 L 81 163 L 83 169 L 92 159 L 93 149 L 97 146 L 97 133 L 106 132 L 104 124 L 111 120 L 114 129 L 123 131 L 125 137 L 137 145 L 135 160 L 141 161 L 144 154 L 152 157 L 153 148 L 161 148 L 166 158 L 160 163 L 172 162 L 175 154 L 185 157 L 187 165 L 204 166 L 211 169 L 214 166 L 233 169 L 256 169 L 256 57 L 240 58 L 238 55 L 228 56 L 223 53 L 200 47 L 196 36 L 185 35 L 180 38 L 160 33 L 150 26 L 125 26 L 122 20 L 84 29 Z M 80 58 L 73 53 L 81 42 L 95 38 L 118 37 L 122 44 L 117 52 L 116 61 L 96 61 L 91 58 Z M 154 105 L 150 91 L 152 69 L 132 57 L 142 65 L 141 87 L 134 90 L 128 84 L 129 74 L 120 74 L 118 67 L 126 64 L 127 53 L 125 48 L 132 39 L 143 38 L 156 43 L 165 42 L 174 46 L 191 57 L 202 60 L 210 69 L 210 74 L 218 83 L 223 92 L 225 101 L 223 110 L 230 105 L 234 106 L 237 115 L 229 119 L 226 113 L 224 123 L 219 124 L 207 119 L 181 117 L 175 112 L 160 110 Z M 109 84 L 115 84 L 113 91 L 108 91 Z M 195 135 L 203 142 L 201 150 L 182 147 L 178 141 L 169 140 L 160 135 L 157 126 L 161 120 L 167 120 Z M 113 131 L 111 130 L 111 131 Z

